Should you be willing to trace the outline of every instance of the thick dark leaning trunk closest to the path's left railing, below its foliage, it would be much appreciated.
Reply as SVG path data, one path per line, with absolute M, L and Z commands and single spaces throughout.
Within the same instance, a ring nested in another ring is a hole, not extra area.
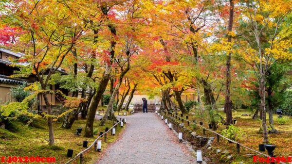
M 87 115 L 86 127 L 85 127 L 85 137 L 93 137 L 93 122 L 95 118 L 95 113 L 99 104 L 99 101 L 102 98 L 103 93 L 105 92 L 108 82 L 110 81 L 110 69 L 111 65 L 107 66 L 104 75 L 99 82 L 98 88 L 92 98 L 91 105 L 89 107 L 89 112 Z

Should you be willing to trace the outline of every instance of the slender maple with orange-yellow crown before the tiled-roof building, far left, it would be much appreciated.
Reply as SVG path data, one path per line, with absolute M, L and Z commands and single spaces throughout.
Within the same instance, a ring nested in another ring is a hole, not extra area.
M 63 60 L 78 44 L 78 40 L 84 33 L 86 24 L 78 22 L 78 18 L 71 15 L 60 4 L 51 3 L 49 0 L 33 1 L 10 0 L 6 3 L 10 10 L 6 10 L 4 18 L 1 19 L 7 26 L 21 29 L 15 50 L 20 50 L 26 55 L 23 57 L 29 64 L 30 69 L 24 69 L 24 76 L 31 73 L 37 76 L 44 98 L 49 127 L 49 144 L 54 145 L 53 116 L 47 93 L 51 76 L 59 70 Z M 74 20 L 74 21 L 73 21 Z M 74 22 L 74 23 L 73 23 Z M 22 50 L 24 49 L 24 51 Z

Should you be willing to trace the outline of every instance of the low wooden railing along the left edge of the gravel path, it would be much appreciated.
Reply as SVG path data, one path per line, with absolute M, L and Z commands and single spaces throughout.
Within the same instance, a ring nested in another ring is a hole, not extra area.
M 103 134 L 99 135 L 94 141 L 93 143 L 86 149 L 80 151 L 74 158 L 72 158 L 71 160 L 69 160 L 68 162 L 66 162 L 65 164 L 70 164 L 72 163 L 74 160 L 76 160 L 78 157 L 80 158 L 80 164 L 83 164 L 83 161 L 84 161 L 84 156 L 83 154 L 88 151 L 90 148 L 92 148 L 93 146 L 95 146 L 95 151 L 96 151 L 96 144 L 97 144 L 97 140 L 99 138 L 101 138 L 102 136 L 106 136 L 108 132 L 110 132 L 112 130 L 112 128 L 116 127 L 117 125 L 119 125 L 121 123 L 121 121 L 124 121 L 124 118 L 121 119 L 120 121 L 118 121 L 116 124 L 114 124 L 108 131 L 105 131 Z M 106 140 L 106 137 L 105 137 L 105 140 Z

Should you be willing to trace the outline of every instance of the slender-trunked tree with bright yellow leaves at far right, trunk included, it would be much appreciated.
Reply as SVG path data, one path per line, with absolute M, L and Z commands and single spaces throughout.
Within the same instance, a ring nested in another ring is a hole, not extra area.
M 240 53 L 243 59 L 252 66 L 258 81 L 260 110 L 264 143 L 268 142 L 266 125 L 266 77 L 269 69 L 278 60 L 291 60 L 291 38 L 288 36 L 285 18 L 291 15 L 291 1 L 258 0 L 244 4 L 242 26 L 248 32 L 244 34 L 246 43 Z M 284 31 L 282 31 L 284 30 Z M 248 47 L 246 49 L 246 47 Z

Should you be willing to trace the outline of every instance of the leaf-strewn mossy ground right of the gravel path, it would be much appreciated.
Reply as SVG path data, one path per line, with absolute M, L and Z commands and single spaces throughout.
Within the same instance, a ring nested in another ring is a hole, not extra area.
M 197 114 L 197 111 L 190 111 L 191 113 L 196 113 L 195 115 L 188 115 L 188 120 L 195 120 L 197 123 L 199 121 L 203 122 L 204 127 L 208 127 L 208 119 L 205 115 L 202 119 Z M 220 115 L 223 117 L 225 114 L 223 112 L 219 112 Z M 243 129 L 245 134 L 243 137 L 238 140 L 239 143 L 242 145 L 245 145 L 249 148 L 253 148 L 255 150 L 258 150 L 258 144 L 262 144 L 263 142 L 263 134 L 258 133 L 259 129 L 261 127 L 260 122 L 258 120 L 254 120 L 251 118 L 251 116 L 242 116 L 242 114 L 248 114 L 247 111 L 237 111 L 233 112 L 233 117 L 237 119 L 236 127 L 240 127 Z M 180 115 L 180 113 L 179 113 Z M 277 115 L 273 115 L 274 118 L 274 126 L 279 131 L 278 134 L 269 134 L 269 143 L 276 145 L 276 148 L 274 150 L 275 156 L 292 156 L 292 118 L 290 117 L 288 119 L 288 122 L 285 125 L 280 125 L 280 123 L 277 121 Z M 269 117 L 267 115 L 267 125 L 269 125 Z M 222 130 L 224 130 L 226 127 L 225 125 L 219 124 L 219 128 L 217 132 L 221 133 Z M 203 135 L 201 128 L 196 128 L 195 130 L 199 135 Z M 219 143 L 216 141 L 216 136 L 214 133 L 206 131 L 206 136 L 213 136 L 215 137 L 215 140 L 213 141 L 213 145 L 211 149 L 208 149 L 205 153 L 205 156 L 209 157 L 213 162 L 216 164 L 225 164 L 224 161 L 219 161 L 222 154 L 216 154 L 217 149 L 221 149 L 222 151 L 228 150 L 233 155 L 233 160 L 230 162 L 232 164 L 239 164 L 240 162 L 244 162 L 244 164 L 252 164 L 253 163 L 253 155 L 257 155 L 256 152 L 253 152 L 251 150 L 248 150 L 246 148 L 240 148 L 240 153 L 237 154 L 236 151 L 236 144 L 230 144 L 226 140 L 220 138 Z M 266 153 L 267 152 L 263 152 Z M 230 163 L 229 162 L 229 163 Z

